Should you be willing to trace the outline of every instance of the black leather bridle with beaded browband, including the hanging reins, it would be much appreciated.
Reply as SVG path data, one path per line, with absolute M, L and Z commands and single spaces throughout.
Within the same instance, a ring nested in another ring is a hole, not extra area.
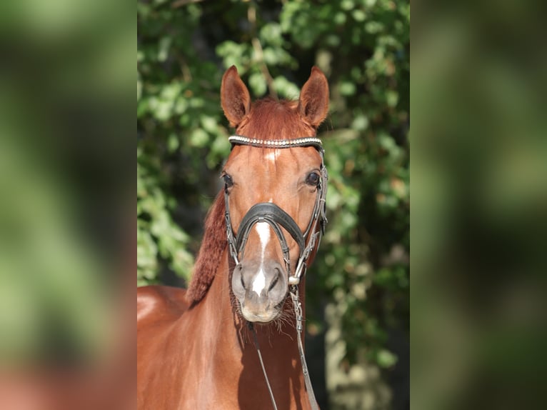
M 224 202 L 226 204 L 226 238 L 228 241 L 228 247 L 232 259 L 234 259 L 235 264 L 239 264 L 239 259 L 243 259 L 245 245 L 247 239 L 249 239 L 249 234 L 251 229 L 255 224 L 259 222 L 266 222 L 271 226 L 275 232 L 279 244 L 281 244 L 281 251 L 283 251 L 283 261 L 285 262 L 286 271 L 288 273 L 288 284 L 290 285 L 291 300 L 293 302 L 293 308 L 296 315 L 296 330 L 298 334 L 298 353 L 300 355 L 300 361 L 302 365 L 302 371 L 304 375 L 304 381 L 306 383 L 306 391 L 308 392 L 308 398 L 311 404 L 312 409 L 318 409 L 317 401 L 315 395 L 313 394 L 313 389 L 311 387 L 311 381 L 308 374 L 308 366 L 306 364 L 306 358 L 303 352 L 303 344 L 301 338 L 301 332 L 303 329 L 302 321 L 302 306 L 300 299 L 298 297 L 298 284 L 300 283 L 301 276 L 306 274 L 307 261 L 311 252 L 318 248 L 319 243 L 321 242 L 321 236 L 324 234 L 327 219 L 326 219 L 326 189 L 327 189 L 327 180 L 328 174 L 326 171 L 325 164 L 323 162 L 323 145 L 321 140 L 315 137 L 304 137 L 296 139 L 278 139 L 278 140 L 264 140 L 264 139 L 251 139 L 246 136 L 234 135 L 229 137 L 229 141 L 232 144 L 232 148 L 236 145 L 246 145 L 254 146 L 257 148 L 266 148 L 266 149 L 286 149 L 286 148 L 296 148 L 296 147 L 305 147 L 313 146 L 317 149 L 321 156 L 321 177 L 319 184 L 317 186 L 317 196 L 316 201 L 313 206 L 313 212 L 311 214 L 310 221 L 305 231 L 301 231 L 296 224 L 296 221 L 283 211 L 279 206 L 271 202 L 261 202 L 251 206 L 251 209 L 247 211 L 241 224 L 239 224 L 239 232 L 236 234 L 234 228 L 231 224 L 229 201 L 228 201 L 228 186 L 225 186 L 224 189 Z M 319 225 L 319 229 L 318 228 Z M 298 244 L 298 261 L 296 262 L 296 268 L 291 274 L 291 260 L 289 256 L 289 250 L 285 235 L 283 230 L 285 229 L 288 234 L 290 234 L 293 239 Z M 264 367 L 264 361 L 262 360 L 262 355 L 260 351 L 259 341 L 256 337 L 256 332 L 252 322 L 249 322 L 249 329 L 253 332 L 254 344 L 256 350 L 259 354 L 260 364 L 262 366 L 262 371 L 264 373 L 264 378 L 266 379 L 266 384 L 270 393 L 271 403 L 273 404 L 273 409 L 277 409 L 276 401 L 273 398 L 273 393 L 271 391 L 270 382 L 268 375 L 266 374 L 266 369 Z

